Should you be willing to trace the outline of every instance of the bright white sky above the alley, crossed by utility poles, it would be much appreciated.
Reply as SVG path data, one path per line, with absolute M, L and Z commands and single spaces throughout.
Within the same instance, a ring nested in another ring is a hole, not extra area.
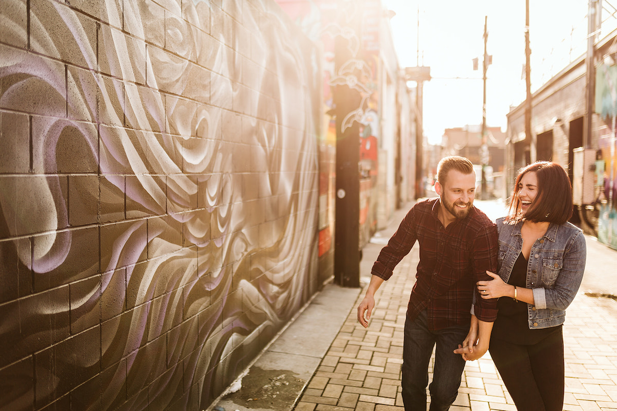
M 603 2 L 610 6 L 607 0 Z M 391 27 L 400 67 L 431 68 L 431 81 L 424 83 L 424 134 L 430 144 L 439 144 L 446 128 L 482 124 L 486 16 L 487 54 L 492 55 L 487 69 L 486 124 L 505 132 L 510 106 L 525 99 L 525 1 L 382 3 L 395 12 Z M 587 7 L 587 0 L 529 0 L 532 92 L 586 53 Z M 610 18 L 603 23 L 599 38 L 615 28 L 616 21 Z M 479 59 L 477 71 L 473 70 L 475 57 Z

